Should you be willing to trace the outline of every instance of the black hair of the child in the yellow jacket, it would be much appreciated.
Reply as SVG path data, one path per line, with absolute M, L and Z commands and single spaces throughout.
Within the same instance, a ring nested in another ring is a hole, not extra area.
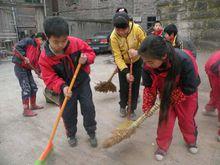
M 118 12 L 115 13 L 114 17 L 113 17 L 113 25 L 116 28 L 122 28 L 125 29 L 127 27 L 129 27 L 129 16 L 126 12 Z

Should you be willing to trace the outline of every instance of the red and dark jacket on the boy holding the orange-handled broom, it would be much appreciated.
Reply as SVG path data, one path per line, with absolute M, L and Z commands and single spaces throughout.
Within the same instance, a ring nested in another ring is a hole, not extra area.
M 39 65 L 42 79 L 47 88 L 56 93 L 61 93 L 64 86 L 70 85 L 81 53 L 85 54 L 88 59 L 87 63 L 80 69 L 74 87 L 79 86 L 86 78 L 89 78 L 90 64 L 94 63 L 95 59 L 93 49 L 81 39 L 71 36 L 68 37 L 64 54 L 53 54 L 49 48 L 49 43 L 45 44 L 40 55 Z

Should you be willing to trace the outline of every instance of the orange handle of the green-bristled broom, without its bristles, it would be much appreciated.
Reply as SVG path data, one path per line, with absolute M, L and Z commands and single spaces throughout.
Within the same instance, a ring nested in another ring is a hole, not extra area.
M 81 64 L 79 63 L 77 65 L 77 68 L 76 68 L 75 72 L 74 72 L 73 78 L 72 78 L 70 86 L 68 88 L 68 92 L 70 92 L 72 90 L 72 88 L 73 88 L 73 85 L 74 85 L 76 77 L 77 77 L 77 75 L 79 73 L 80 67 L 81 67 Z M 64 111 L 64 108 L 66 106 L 67 101 L 68 101 L 68 97 L 65 97 L 65 99 L 63 101 L 63 104 L 62 104 L 62 106 L 60 108 L 60 111 L 59 111 L 59 113 L 57 115 L 56 121 L 55 121 L 55 123 L 53 125 L 53 130 L 52 130 L 52 132 L 50 134 L 50 138 L 49 138 L 47 147 L 45 148 L 44 152 L 41 154 L 39 160 L 44 160 L 47 157 L 47 155 L 48 155 L 48 146 L 50 146 L 50 144 L 52 144 L 52 141 L 54 139 L 54 136 L 55 136 L 55 133 L 56 133 L 56 130 L 57 130 L 57 126 L 59 124 L 60 118 L 61 118 L 61 116 L 63 114 L 63 111 Z

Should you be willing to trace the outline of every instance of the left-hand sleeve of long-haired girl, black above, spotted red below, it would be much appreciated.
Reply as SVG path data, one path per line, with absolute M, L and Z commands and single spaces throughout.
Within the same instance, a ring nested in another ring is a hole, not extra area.
M 153 85 L 153 80 L 150 76 L 150 71 L 144 70 L 142 71 L 143 85 L 145 86 L 143 90 L 143 105 L 142 111 L 149 111 L 157 98 L 157 88 Z

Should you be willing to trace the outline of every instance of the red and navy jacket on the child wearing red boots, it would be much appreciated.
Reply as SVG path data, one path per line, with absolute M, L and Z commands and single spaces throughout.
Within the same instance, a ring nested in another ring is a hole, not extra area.
M 40 44 L 37 42 L 37 40 L 33 38 L 25 38 L 21 41 L 19 41 L 15 45 L 14 49 L 14 56 L 12 57 L 12 62 L 25 68 L 25 69 L 32 69 L 30 65 L 25 64 L 23 57 L 27 57 L 30 60 L 30 63 L 32 66 L 40 70 L 38 59 L 40 56 Z

